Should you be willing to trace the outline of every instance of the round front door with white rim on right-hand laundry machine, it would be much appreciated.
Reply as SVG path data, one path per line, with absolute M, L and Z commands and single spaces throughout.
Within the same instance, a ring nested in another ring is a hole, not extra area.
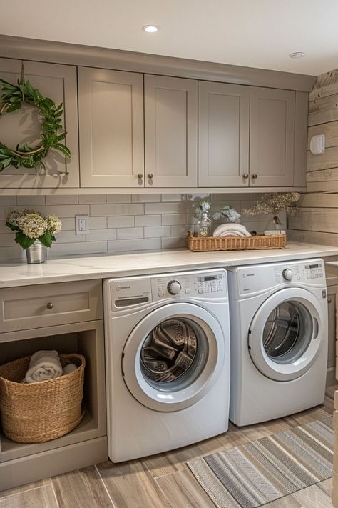
M 322 303 L 301 288 L 281 289 L 265 300 L 248 337 L 252 362 L 262 374 L 289 381 L 309 370 L 325 339 L 317 309 Z

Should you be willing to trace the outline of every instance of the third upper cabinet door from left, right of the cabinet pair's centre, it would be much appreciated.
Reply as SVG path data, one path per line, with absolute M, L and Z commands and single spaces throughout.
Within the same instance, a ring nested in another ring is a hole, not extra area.
M 145 186 L 197 186 L 197 109 L 197 81 L 145 76 Z

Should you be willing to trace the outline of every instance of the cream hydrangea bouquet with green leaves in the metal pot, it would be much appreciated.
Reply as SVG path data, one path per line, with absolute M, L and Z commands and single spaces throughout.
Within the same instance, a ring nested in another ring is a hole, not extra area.
M 16 231 L 16 243 L 28 249 L 36 240 L 50 247 L 56 241 L 54 234 L 61 231 L 62 224 L 54 215 L 45 216 L 34 210 L 13 210 L 7 215 L 6 226 Z

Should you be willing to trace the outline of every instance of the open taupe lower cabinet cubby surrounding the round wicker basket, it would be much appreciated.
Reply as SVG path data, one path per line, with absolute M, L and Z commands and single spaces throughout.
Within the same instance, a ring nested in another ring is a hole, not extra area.
M 101 287 L 101 281 L 97 284 Z M 49 284 L 49 288 L 53 289 L 53 285 Z M 16 291 L 20 294 L 21 288 L 16 288 Z M 31 286 L 31 292 L 33 296 L 34 286 Z M 52 298 L 53 294 L 50 294 L 48 300 Z M 102 307 L 96 311 L 102 317 Z M 39 322 L 36 325 L 39 326 Z M 20 444 L 0 432 L 0 490 L 103 462 L 108 458 L 103 319 L 0 333 L 1 364 L 40 349 L 56 349 L 60 354 L 79 353 L 86 358 L 83 389 L 85 415 L 72 432 L 45 443 Z M 36 418 L 39 417 L 43 418 L 43 414 L 36 415 Z

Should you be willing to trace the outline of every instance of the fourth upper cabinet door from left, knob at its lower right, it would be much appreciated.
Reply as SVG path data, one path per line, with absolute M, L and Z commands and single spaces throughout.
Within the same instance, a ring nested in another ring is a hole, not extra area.
M 199 186 L 248 186 L 249 103 L 249 86 L 199 82 Z

